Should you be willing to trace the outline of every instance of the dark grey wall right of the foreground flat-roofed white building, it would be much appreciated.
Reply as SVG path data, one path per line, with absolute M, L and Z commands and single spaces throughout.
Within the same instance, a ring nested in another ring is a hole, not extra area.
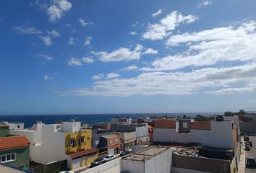
M 173 154 L 173 167 L 192 169 L 200 172 L 231 173 L 229 160 L 199 158 Z

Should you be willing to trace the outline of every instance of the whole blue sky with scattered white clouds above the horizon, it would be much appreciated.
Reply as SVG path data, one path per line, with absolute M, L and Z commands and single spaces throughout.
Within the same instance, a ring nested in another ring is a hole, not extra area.
M 0 115 L 255 110 L 254 0 L 0 3 Z

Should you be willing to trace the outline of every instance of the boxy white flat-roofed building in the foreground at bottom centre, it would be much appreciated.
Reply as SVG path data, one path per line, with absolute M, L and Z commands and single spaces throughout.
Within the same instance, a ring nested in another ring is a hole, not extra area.
M 170 148 L 147 148 L 121 159 L 121 171 L 131 173 L 170 173 Z

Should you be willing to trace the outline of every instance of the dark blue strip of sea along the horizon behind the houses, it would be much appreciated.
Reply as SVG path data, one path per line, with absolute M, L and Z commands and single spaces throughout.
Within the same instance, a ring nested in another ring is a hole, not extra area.
M 10 123 L 24 123 L 24 128 L 30 128 L 36 121 L 42 121 L 45 124 L 52 124 L 60 121 L 69 121 L 74 119 L 82 123 L 93 125 L 95 123 L 110 122 L 112 117 L 153 117 L 153 116 L 168 116 L 179 117 L 187 115 L 195 117 L 196 115 L 220 115 L 220 112 L 208 113 L 148 113 L 148 114 L 80 114 L 80 115 L 0 115 L 0 122 L 7 121 Z

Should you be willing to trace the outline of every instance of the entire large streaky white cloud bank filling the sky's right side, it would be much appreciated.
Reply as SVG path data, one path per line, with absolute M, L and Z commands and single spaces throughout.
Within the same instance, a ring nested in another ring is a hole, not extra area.
M 95 81 L 91 87 L 62 93 L 125 97 L 255 92 L 255 30 L 256 23 L 251 21 L 239 26 L 173 35 L 167 44 L 184 48 L 173 56 L 156 59 L 148 68 L 140 68 L 139 75 L 117 79 L 102 77 L 103 80 Z M 184 67 L 189 68 L 182 71 Z M 137 66 L 123 70 L 133 68 Z

